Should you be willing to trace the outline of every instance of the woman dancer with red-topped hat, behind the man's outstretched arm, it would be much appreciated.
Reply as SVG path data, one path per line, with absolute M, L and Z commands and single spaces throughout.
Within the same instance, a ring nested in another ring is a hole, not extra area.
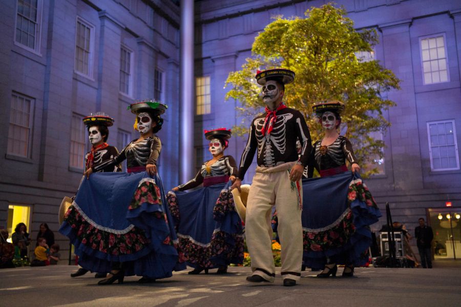
M 225 274 L 229 264 L 243 262 L 242 224 L 229 189 L 237 164 L 232 156 L 224 156 L 230 130 L 205 130 L 205 137 L 213 159 L 202 164 L 194 179 L 173 188 L 167 199 L 187 265 L 195 268 L 189 274 L 207 274 L 213 268 Z M 202 183 L 200 189 L 182 192 Z

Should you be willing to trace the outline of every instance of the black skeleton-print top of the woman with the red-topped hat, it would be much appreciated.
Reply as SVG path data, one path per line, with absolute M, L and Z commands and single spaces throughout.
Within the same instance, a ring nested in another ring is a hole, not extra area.
M 206 166 L 208 161 L 203 162 L 202 167 L 194 179 L 178 186 L 180 191 L 195 188 L 203 183 L 205 177 L 215 176 L 237 176 L 237 163 L 232 156 L 223 156 L 210 166 Z

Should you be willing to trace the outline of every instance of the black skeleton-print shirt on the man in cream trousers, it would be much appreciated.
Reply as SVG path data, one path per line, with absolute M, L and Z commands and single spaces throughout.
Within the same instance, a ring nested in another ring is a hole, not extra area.
M 252 164 L 257 151 L 259 166 L 273 167 L 286 162 L 298 161 L 304 167 L 308 164 L 311 151 L 309 128 L 301 112 L 292 108 L 284 108 L 277 112 L 277 120 L 270 134 L 263 136 L 263 127 L 266 114 L 253 119 L 248 133 L 248 141 L 240 159 L 238 178 L 243 180 L 248 167 Z M 298 159 L 296 140 L 302 145 Z

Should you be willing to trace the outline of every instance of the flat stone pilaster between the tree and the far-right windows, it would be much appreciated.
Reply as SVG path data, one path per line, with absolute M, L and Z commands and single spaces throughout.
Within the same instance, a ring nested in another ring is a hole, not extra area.
M 392 123 L 390 150 L 395 190 L 423 188 L 418 116 L 414 94 L 410 46 L 410 20 L 380 25 L 383 33 L 384 66 L 401 80 L 400 91 L 391 91 L 388 98 L 397 105 L 389 109 Z

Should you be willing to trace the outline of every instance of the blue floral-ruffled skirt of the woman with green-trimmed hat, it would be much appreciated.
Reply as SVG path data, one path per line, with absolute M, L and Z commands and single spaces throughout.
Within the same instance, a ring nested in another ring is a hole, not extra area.
M 145 171 L 84 179 L 59 232 L 93 272 L 109 272 L 114 262 L 122 262 L 125 276 L 155 279 L 185 269 L 161 180 Z

